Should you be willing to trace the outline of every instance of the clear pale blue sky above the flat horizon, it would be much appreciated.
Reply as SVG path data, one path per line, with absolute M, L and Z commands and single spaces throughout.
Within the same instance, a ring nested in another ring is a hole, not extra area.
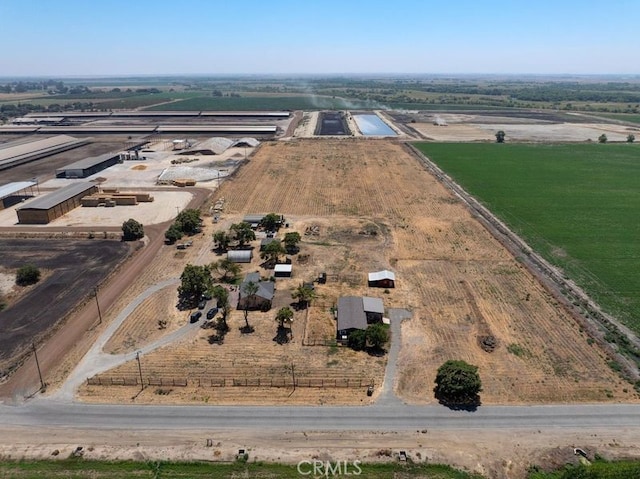
M 0 77 L 640 73 L 638 0 L 0 0 Z

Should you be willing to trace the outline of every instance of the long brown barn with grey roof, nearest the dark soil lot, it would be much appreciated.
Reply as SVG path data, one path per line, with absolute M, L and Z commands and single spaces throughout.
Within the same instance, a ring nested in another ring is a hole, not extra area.
M 16 210 L 20 224 L 47 224 L 80 206 L 80 199 L 98 191 L 88 181 L 72 183 L 52 193 L 28 201 Z

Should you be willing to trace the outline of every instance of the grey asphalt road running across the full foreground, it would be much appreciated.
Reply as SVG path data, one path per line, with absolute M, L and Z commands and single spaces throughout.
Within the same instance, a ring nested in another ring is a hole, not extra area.
M 36 398 L 0 405 L 2 426 L 119 430 L 268 429 L 399 431 L 421 429 L 640 428 L 640 405 L 480 406 L 454 411 L 403 404 L 365 407 L 136 406 Z

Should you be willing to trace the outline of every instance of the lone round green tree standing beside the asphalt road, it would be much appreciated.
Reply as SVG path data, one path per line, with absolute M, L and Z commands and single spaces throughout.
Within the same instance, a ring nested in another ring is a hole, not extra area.
M 461 360 L 449 360 L 438 368 L 435 396 L 444 404 L 476 405 L 482 383 L 478 367 Z

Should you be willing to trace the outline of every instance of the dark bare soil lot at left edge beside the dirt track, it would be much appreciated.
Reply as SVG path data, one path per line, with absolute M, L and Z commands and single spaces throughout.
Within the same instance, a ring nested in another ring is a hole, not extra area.
M 94 286 L 124 259 L 128 245 L 100 240 L 2 239 L 0 267 L 15 271 L 30 263 L 46 275 L 19 301 L 0 312 L 0 368 L 4 375 L 19 357 L 47 336 Z

